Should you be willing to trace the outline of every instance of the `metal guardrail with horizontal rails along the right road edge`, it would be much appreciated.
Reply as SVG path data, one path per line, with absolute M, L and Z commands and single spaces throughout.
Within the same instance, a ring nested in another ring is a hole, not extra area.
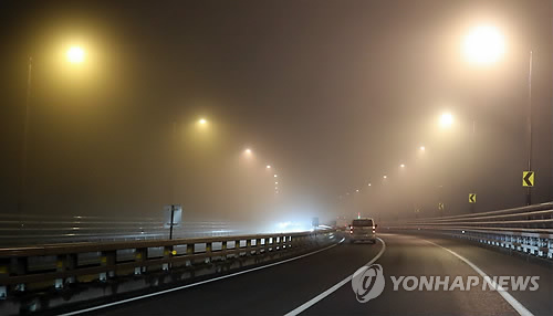
M 427 231 L 553 259 L 553 202 L 508 210 L 418 219 L 383 225 Z

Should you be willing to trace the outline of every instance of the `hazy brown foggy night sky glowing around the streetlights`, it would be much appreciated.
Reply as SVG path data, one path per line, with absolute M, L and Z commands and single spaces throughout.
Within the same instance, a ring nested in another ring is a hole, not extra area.
M 467 212 L 469 192 L 478 211 L 523 206 L 530 50 L 533 201 L 553 200 L 551 1 L 2 1 L 0 11 L 2 213 L 18 212 L 29 55 L 25 213 L 158 215 L 175 201 L 201 219 L 436 215 L 438 201 Z M 481 22 L 507 49 L 479 69 L 460 44 Z M 60 59 L 73 42 L 87 52 L 81 70 Z M 437 125 L 447 110 L 450 131 Z

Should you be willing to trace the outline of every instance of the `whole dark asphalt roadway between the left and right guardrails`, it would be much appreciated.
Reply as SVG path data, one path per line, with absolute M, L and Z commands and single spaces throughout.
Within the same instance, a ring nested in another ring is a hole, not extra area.
M 511 293 L 534 315 L 553 315 L 551 266 L 526 262 L 462 241 L 431 236 L 380 234 L 386 251 L 376 262 L 384 268 L 386 287 L 380 296 L 361 304 L 349 282 L 302 315 L 519 315 L 498 292 L 394 291 L 390 275 L 478 275 L 448 251 L 465 256 L 488 275 L 540 275 L 540 291 Z M 283 315 L 331 288 L 369 262 L 382 243 L 344 243 L 289 263 L 239 276 L 145 298 L 91 314 L 98 315 Z

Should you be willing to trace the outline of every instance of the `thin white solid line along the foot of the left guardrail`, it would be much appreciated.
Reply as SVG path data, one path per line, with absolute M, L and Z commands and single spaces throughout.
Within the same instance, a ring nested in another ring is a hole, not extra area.
M 302 254 L 302 255 L 299 255 L 299 256 L 286 259 L 286 260 L 283 260 L 283 261 L 273 262 L 273 263 L 265 264 L 265 265 L 262 265 L 262 266 L 257 266 L 257 267 L 252 267 L 252 268 L 249 268 L 249 270 L 239 271 L 239 272 L 234 272 L 234 273 L 231 273 L 231 274 L 227 274 L 227 275 L 222 275 L 222 276 L 218 276 L 218 277 L 213 277 L 213 278 L 209 278 L 209 280 L 205 280 L 205 281 L 200 281 L 200 282 L 196 282 L 196 283 L 182 285 L 182 286 L 177 286 L 177 287 L 173 287 L 173 288 L 168 288 L 168 289 L 164 289 L 164 291 L 159 291 L 159 292 L 155 292 L 155 293 L 149 293 L 149 294 L 140 295 L 140 296 L 135 296 L 135 297 L 131 297 L 131 298 L 126 298 L 126 299 L 122 299 L 122 301 L 117 301 L 117 302 L 112 302 L 112 303 L 107 303 L 107 304 L 103 304 L 103 305 L 97 305 L 97 306 L 93 306 L 93 307 L 88 307 L 88 308 L 84 308 L 84 309 L 73 310 L 73 312 L 70 312 L 70 313 L 61 314 L 60 316 L 79 315 L 79 314 L 82 314 L 82 313 L 93 312 L 93 310 L 97 310 L 97 309 L 102 309 L 102 308 L 106 308 L 106 307 L 112 307 L 112 306 L 125 304 L 125 303 L 128 303 L 128 302 L 134 302 L 134 301 L 143 299 L 143 298 L 147 298 L 147 297 L 152 297 L 152 296 L 157 296 L 157 295 L 161 295 L 161 294 L 166 294 L 166 293 L 170 293 L 170 292 L 175 292 L 175 291 L 180 291 L 180 289 L 185 289 L 185 288 L 188 288 L 188 287 L 192 287 L 192 286 L 197 286 L 197 285 L 201 285 L 201 284 L 211 283 L 211 282 L 215 282 L 215 281 L 219 281 L 219 280 L 223 280 L 223 278 L 237 276 L 237 275 L 244 274 L 244 273 L 248 273 L 248 272 L 253 272 L 253 271 L 262 270 L 262 268 L 265 268 L 265 267 L 271 267 L 271 266 L 274 266 L 274 265 L 283 264 L 283 263 L 286 263 L 286 262 L 291 262 L 291 261 L 294 261 L 294 260 L 298 260 L 298 259 L 302 259 L 302 257 L 305 257 L 305 256 L 309 256 L 309 255 L 312 255 L 312 254 L 320 253 L 322 251 L 328 250 L 331 247 L 336 246 L 337 244 L 343 243 L 344 240 L 345 239 L 343 238 L 338 243 L 332 244 L 330 246 L 326 246 L 326 247 L 323 247 L 323 249 L 320 249 L 320 250 L 316 250 L 316 251 L 313 251 L 313 252 L 310 252 L 310 253 L 306 253 L 306 254 Z

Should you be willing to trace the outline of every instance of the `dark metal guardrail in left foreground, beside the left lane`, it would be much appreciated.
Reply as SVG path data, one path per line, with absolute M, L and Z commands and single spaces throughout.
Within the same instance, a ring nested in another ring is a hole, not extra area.
M 22 293 L 50 288 L 61 291 L 75 284 L 117 282 L 125 276 L 165 280 L 174 271 L 191 272 L 208 266 L 209 273 L 274 260 L 336 242 L 334 230 L 140 240 L 85 242 L 0 249 L 0 312 L 2 302 Z M 165 275 L 165 276 L 164 276 Z M 14 304 L 12 302 L 12 304 Z M 19 308 L 19 307 L 18 307 Z M 0 313 L 2 314 L 2 313 Z M 9 313 L 7 313 L 9 314 Z

